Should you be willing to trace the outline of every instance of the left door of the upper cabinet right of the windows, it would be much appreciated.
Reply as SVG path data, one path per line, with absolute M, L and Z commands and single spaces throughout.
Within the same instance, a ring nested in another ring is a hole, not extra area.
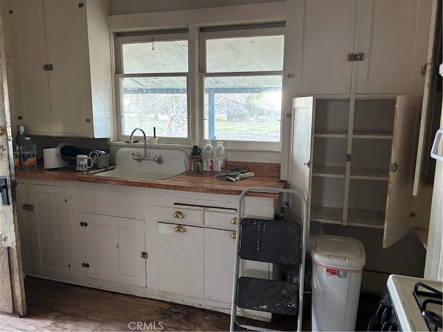
M 350 93 L 347 54 L 354 46 L 356 1 L 296 1 L 292 6 L 302 11 L 287 36 L 295 39 L 288 41 L 294 49 L 294 59 L 288 59 L 295 69 L 292 93 Z

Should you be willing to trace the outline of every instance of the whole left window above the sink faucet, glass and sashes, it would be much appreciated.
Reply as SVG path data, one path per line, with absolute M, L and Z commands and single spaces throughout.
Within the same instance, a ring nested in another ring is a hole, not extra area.
M 116 35 L 119 139 L 140 127 L 161 142 L 188 140 L 188 33 Z

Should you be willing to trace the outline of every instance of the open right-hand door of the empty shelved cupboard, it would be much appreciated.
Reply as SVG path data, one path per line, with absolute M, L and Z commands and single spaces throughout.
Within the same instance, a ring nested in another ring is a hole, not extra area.
M 395 103 L 383 248 L 392 246 L 410 230 L 414 157 L 421 107 L 421 97 L 401 95 Z

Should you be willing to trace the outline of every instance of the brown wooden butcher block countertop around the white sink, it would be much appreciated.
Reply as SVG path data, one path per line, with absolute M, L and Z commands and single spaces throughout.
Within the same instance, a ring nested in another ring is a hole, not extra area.
M 19 170 L 17 178 L 40 178 L 60 181 L 80 181 L 88 183 L 104 183 L 108 185 L 128 185 L 132 187 L 156 188 L 165 190 L 179 190 L 183 192 L 203 192 L 206 194 L 239 195 L 248 187 L 271 187 L 282 189 L 286 181 L 279 178 L 253 176 L 239 181 L 221 181 L 214 176 L 182 173 L 165 180 L 140 180 L 136 178 L 115 178 L 82 174 L 73 169 L 48 171 L 43 167 L 33 170 Z M 267 197 L 278 199 L 279 194 L 274 192 L 250 192 L 248 196 Z

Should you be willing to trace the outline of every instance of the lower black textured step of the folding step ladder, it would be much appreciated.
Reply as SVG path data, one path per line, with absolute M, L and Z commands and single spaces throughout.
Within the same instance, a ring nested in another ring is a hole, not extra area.
M 239 308 L 297 315 L 298 284 L 275 280 L 240 277 L 237 306 Z

